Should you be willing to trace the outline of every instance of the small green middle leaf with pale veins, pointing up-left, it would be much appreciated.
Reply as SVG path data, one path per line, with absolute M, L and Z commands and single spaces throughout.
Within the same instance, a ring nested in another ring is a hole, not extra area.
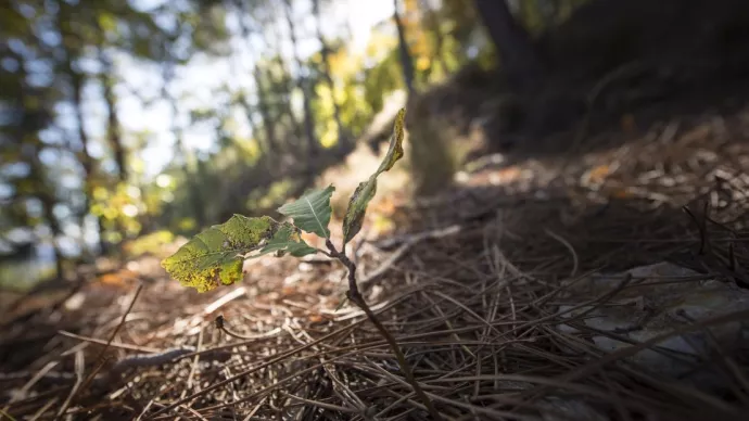
M 294 219 L 294 225 L 306 232 L 314 232 L 323 239 L 330 238 L 330 196 L 334 187 L 328 186 L 323 190 L 314 190 L 296 202 L 288 203 L 278 208 L 278 212 Z

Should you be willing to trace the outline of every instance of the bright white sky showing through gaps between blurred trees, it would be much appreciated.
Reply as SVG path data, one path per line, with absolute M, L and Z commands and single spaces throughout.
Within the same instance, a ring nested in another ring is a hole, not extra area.
M 155 0 L 144 0 L 142 3 L 150 3 Z M 297 1 L 300 14 L 312 15 L 310 10 L 301 10 L 304 2 Z M 312 4 L 312 2 L 309 2 Z M 334 10 L 323 13 L 333 13 L 330 22 L 345 22 L 347 18 L 350 28 L 353 31 L 352 44 L 356 49 L 364 49 L 369 41 L 373 25 L 389 18 L 393 14 L 392 0 L 337 0 Z M 340 18 L 339 18 L 340 17 Z M 312 21 L 312 20 L 308 20 Z M 307 56 L 318 49 L 314 37 L 314 22 L 304 23 L 303 37 L 307 38 L 301 42 L 301 54 Z M 325 27 L 323 33 L 329 36 L 341 34 L 344 28 Z M 244 43 L 242 40 L 233 42 Z M 244 43 L 245 44 L 245 43 Z M 288 40 L 282 41 L 282 50 L 291 52 Z M 165 101 L 156 100 L 150 105 L 144 105 L 140 99 L 132 94 L 152 98 L 158 95 L 162 87 L 161 71 L 157 66 L 137 63 L 130 58 L 122 56 L 117 61 L 118 71 L 122 74 L 122 84 L 117 93 L 119 97 L 119 114 L 122 124 L 126 132 L 136 133 L 149 131 L 152 133 L 149 146 L 143 151 L 142 157 L 145 163 L 145 171 L 153 176 L 161 171 L 173 157 L 174 137 L 169 131 L 170 109 Z M 249 65 L 242 68 L 250 72 Z M 212 109 L 218 106 L 219 102 L 215 99 L 215 92 L 219 91 L 221 84 L 231 81 L 232 85 L 247 87 L 250 80 L 236 80 L 237 77 L 231 73 L 231 58 L 207 58 L 204 55 L 195 58 L 188 66 L 178 73 L 178 80 L 175 81 L 176 95 L 180 99 L 180 106 Z M 98 116 L 94 116 L 98 118 Z M 187 115 L 180 116 L 187 123 Z M 99 126 L 93 123 L 89 126 Z M 91 127 L 93 128 L 93 127 Z M 249 128 L 245 130 L 249 135 Z M 213 129 L 211 127 L 191 127 L 185 133 L 185 142 L 190 149 L 206 150 L 213 144 Z

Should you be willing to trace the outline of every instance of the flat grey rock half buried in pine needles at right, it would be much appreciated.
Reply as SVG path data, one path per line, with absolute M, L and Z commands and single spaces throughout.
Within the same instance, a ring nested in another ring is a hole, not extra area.
M 591 340 L 605 352 L 615 352 L 683 326 L 749 309 L 749 290 L 670 263 L 592 276 L 570 284 L 566 299 L 586 303 L 606 296 L 622 285 L 627 272 L 632 280 L 626 286 L 598 307 L 573 309 L 574 305 L 563 305 L 559 308 L 571 310 L 564 318 L 582 316 L 579 323 L 601 332 L 594 333 Z M 579 332 L 571 324 L 560 324 L 559 329 L 566 333 Z M 721 354 L 749 350 L 749 320 L 708 329 L 671 336 L 660 342 L 657 349 L 644 349 L 627 360 L 653 373 L 688 380 L 700 386 L 725 384 L 728 378 L 711 361 Z

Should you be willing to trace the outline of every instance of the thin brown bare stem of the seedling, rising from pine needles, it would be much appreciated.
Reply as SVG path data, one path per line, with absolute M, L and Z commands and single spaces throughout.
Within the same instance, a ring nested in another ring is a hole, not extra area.
M 356 306 L 359 307 L 365 315 L 367 315 L 369 321 L 371 321 L 372 324 L 374 324 L 374 328 L 377 328 L 382 337 L 384 337 L 384 340 L 388 342 L 388 345 L 390 345 L 390 348 L 393 350 L 393 354 L 395 354 L 395 358 L 398 361 L 401 370 L 406 377 L 406 381 L 408 382 L 408 384 L 411 385 L 411 387 L 414 387 L 414 393 L 419 398 L 419 400 L 421 400 L 423 406 L 427 407 L 427 410 L 432 416 L 432 419 L 442 420 L 442 416 L 440 416 L 440 412 L 437 412 L 436 408 L 434 407 L 434 404 L 432 403 L 432 399 L 430 399 L 429 396 L 427 396 L 419 383 L 417 383 L 416 378 L 414 378 L 414 370 L 406 360 L 406 356 L 401 350 L 401 347 L 398 346 L 398 343 L 395 341 L 395 337 L 388 331 L 384 324 L 382 324 L 380 319 L 377 318 L 377 315 L 374 315 L 371 308 L 369 308 L 369 305 L 367 305 L 367 302 L 361 296 L 361 293 L 359 292 L 359 286 L 356 283 L 356 264 L 354 264 L 346 256 L 345 245 L 343 246 L 343 250 L 339 252 L 338 248 L 335 248 L 335 245 L 333 245 L 333 242 L 330 241 L 330 239 L 326 239 L 326 246 L 330 251 L 330 255 L 332 257 L 338 258 L 346 267 L 346 269 L 348 269 L 348 291 L 346 291 L 346 296 L 348 297 L 348 299 L 351 299 L 352 303 L 356 304 Z

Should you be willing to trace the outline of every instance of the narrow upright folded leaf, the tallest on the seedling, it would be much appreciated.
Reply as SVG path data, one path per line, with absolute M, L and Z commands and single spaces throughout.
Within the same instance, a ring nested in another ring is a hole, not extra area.
M 380 164 L 380 167 L 372 174 L 367 181 L 360 182 L 359 186 L 348 200 L 348 209 L 343 218 L 343 244 L 345 245 L 353 239 L 361 229 L 364 222 L 364 215 L 367 212 L 369 202 L 377 193 L 377 177 L 390 170 L 395 163 L 403 157 L 403 138 L 404 138 L 404 119 L 406 117 L 406 109 L 401 109 L 395 117 L 395 125 L 393 127 L 393 137 L 390 139 L 390 148 L 388 154 Z

